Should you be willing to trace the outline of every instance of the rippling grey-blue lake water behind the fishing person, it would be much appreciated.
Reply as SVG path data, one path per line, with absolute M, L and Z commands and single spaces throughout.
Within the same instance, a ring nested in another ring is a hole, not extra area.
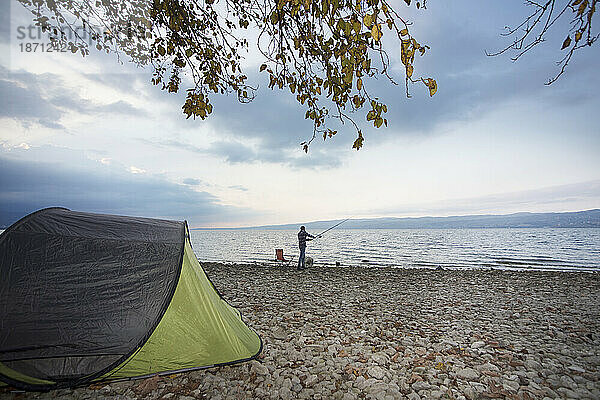
M 298 259 L 296 230 L 194 230 L 191 241 L 200 261 L 276 264 L 276 248 Z M 600 229 L 334 229 L 308 242 L 307 256 L 324 266 L 600 271 Z

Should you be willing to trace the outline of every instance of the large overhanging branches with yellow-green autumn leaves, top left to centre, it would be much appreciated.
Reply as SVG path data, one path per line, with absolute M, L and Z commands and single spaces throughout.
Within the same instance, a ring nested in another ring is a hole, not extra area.
M 353 113 L 362 112 L 375 128 L 387 126 L 387 105 L 371 92 L 378 77 L 397 84 L 384 37 L 400 48 L 406 94 L 414 83 L 431 96 L 437 91 L 433 78 L 415 73 L 415 55 L 429 47 L 412 36 L 410 22 L 388 0 L 19 1 L 53 41 L 73 53 L 89 54 L 91 39 L 98 50 L 152 65 L 152 82 L 173 93 L 188 75 L 193 83 L 182 107 L 188 118 L 208 117 L 214 94 L 254 99 L 257 87 L 248 82 L 242 57 L 257 45 L 264 60 L 259 72 L 268 74 L 269 87 L 289 91 L 313 122 L 312 137 L 301 143 L 305 151 L 317 135 L 337 133 L 328 127 L 330 118 L 352 124 L 357 150 L 364 136 Z M 425 1 L 403 0 L 416 8 L 425 8 Z M 250 43 L 253 35 L 257 40 Z

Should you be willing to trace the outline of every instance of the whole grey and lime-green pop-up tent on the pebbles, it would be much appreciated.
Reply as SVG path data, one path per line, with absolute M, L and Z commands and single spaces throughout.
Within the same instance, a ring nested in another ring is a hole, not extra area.
M 26 390 L 250 360 L 187 223 L 48 208 L 0 235 L 0 380 Z

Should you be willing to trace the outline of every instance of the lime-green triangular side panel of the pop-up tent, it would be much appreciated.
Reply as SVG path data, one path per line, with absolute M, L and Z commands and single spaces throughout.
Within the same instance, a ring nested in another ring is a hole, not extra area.
M 239 311 L 213 289 L 186 240 L 179 284 L 167 312 L 146 344 L 111 378 L 229 364 L 256 357 L 261 348 L 260 337 Z

